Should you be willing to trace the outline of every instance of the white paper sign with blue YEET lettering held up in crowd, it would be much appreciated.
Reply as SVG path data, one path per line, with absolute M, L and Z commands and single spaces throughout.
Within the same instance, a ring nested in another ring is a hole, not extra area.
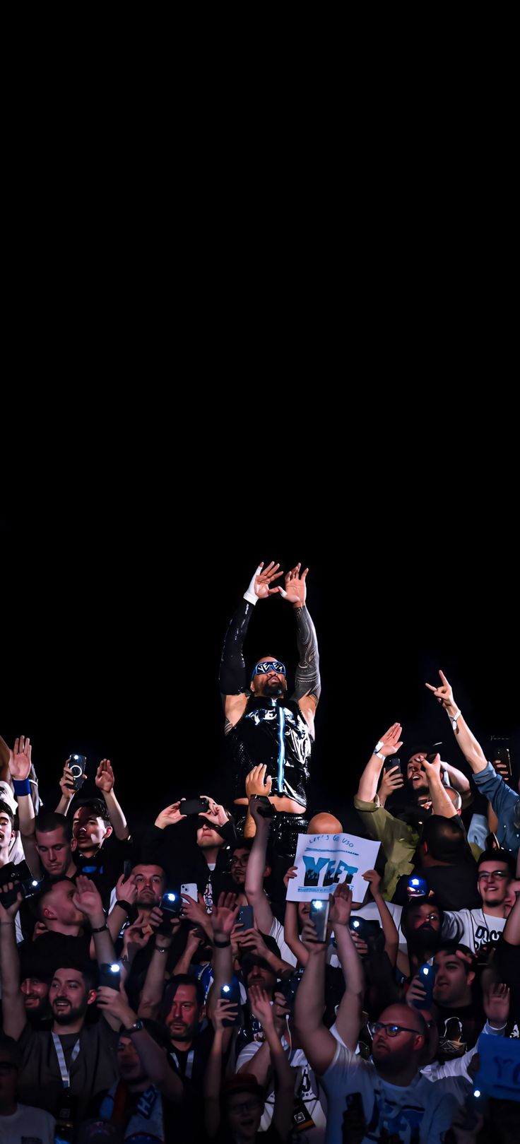
M 298 834 L 298 873 L 289 879 L 287 900 L 327 898 L 338 882 L 347 882 L 353 900 L 362 901 L 368 888 L 362 875 L 374 869 L 378 849 L 379 842 L 355 834 Z

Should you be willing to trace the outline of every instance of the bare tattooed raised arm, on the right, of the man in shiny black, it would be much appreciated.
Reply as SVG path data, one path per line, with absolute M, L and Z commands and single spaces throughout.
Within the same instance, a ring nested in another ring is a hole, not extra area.
M 318 639 L 314 625 L 305 607 L 306 598 L 306 575 L 305 569 L 299 575 L 301 564 L 291 569 L 286 575 L 286 596 L 289 604 L 293 604 L 296 620 L 296 642 L 298 645 L 299 661 L 296 668 L 296 685 L 291 698 L 296 699 L 309 723 L 310 730 L 314 733 L 314 714 L 321 692 L 320 680 L 320 657 L 318 654 Z

